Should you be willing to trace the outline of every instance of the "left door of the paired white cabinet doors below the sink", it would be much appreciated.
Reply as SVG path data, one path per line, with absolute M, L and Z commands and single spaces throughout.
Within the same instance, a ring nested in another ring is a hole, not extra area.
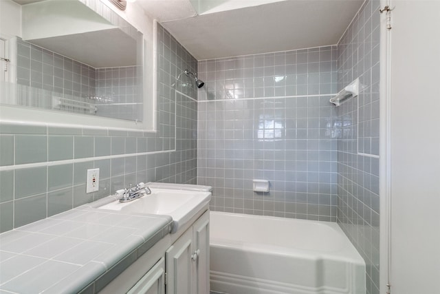
M 192 229 L 166 251 L 167 294 L 194 294 L 191 284 Z

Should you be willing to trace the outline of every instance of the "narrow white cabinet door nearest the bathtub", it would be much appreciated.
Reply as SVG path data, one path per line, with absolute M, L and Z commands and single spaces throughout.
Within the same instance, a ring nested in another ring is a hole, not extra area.
M 209 211 L 194 223 L 192 231 L 195 245 L 193 254 L 197 254 L 192 268 L 195 293 L 209 294 Z

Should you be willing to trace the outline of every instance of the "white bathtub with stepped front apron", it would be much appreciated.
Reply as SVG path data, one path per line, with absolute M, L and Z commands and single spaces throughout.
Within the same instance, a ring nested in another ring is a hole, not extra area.
M 364 294 L 365 263 L 334 222 L 210 212 L 210 288 Z

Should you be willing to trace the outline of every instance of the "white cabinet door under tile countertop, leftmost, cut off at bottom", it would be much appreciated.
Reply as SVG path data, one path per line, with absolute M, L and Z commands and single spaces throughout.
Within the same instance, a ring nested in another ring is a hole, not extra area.
M 165 294 L 165 258 L 161 258 L 127 294 Z

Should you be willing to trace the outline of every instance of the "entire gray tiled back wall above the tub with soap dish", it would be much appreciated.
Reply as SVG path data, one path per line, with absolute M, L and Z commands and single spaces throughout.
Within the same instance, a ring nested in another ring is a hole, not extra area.
M 336 221 L 336 49 L 199 61 L 197 182 L 214 187 L 210 209 Z

